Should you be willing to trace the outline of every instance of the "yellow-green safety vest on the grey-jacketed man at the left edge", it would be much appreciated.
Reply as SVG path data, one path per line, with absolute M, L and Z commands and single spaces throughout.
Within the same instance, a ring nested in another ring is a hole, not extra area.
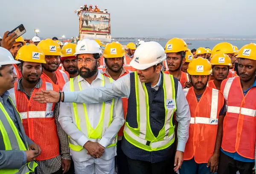
M 10 101 L 12 101 L 11 98 L 9 99 Z M 13 107 L 15 107 L 14 104 L 13 104 Z M 1 150 L 20 150 L 20 151 L 28 150 L 29 148 L 27 144 L 25 146 L 25 144 L 21 140 L 15 124 L 13 123 L 12 119 L 6 112 L 6 109 L 3 107 L 3 104 L 1 102 L 0 102 L 0 109 L 1 109 L 0 132 L 2 134 L 3 143 L 5 145 L 5 149 L 1 149 Z M 17 111 L 17 113 L 19 112 Z M 21 166 L 21 168 L 19 169 L 0 169 L 0 173 L 1 174 L 28 174 L 29 172 L 35 171 L 36 166 L 37 166 L 37 163 L 35 163 L 34 161 L 31 161 Z

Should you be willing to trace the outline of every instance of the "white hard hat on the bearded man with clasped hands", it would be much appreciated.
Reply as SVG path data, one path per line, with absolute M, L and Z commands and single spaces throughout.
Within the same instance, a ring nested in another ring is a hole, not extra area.
M 102 56 L 102 51 L 99 44 L 95 40 L 83 39 L 76 45 L 76 53 L 78 54 L 95 54 L 99 53 Z

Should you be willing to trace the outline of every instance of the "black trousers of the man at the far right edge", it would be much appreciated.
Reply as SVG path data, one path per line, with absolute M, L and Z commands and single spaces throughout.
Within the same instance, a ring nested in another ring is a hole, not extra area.
M 223 152 L 220 153 L 218 174 L 252 174 L 254 162 L 241 162 L 234 160 L 232 157 L 227 156 Z

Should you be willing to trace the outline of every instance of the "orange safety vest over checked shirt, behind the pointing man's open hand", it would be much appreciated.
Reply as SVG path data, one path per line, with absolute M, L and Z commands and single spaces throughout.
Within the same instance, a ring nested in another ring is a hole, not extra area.
M 15 102 L 20 112 L 22 124 L 26 135 L 38 144 L 42 153 L 36 160 L 49 160 L 57 157 L 59 152 L 59 139 L 54 118 L 54 103 L 40 104 L 33 100 L 35 93 L 41 90 L 54 90 L 58 92 L 58 86 L 42 80 L 40 89 L 35 88 L 30 99 L 26 94 L 17 89 L 15 83 Z

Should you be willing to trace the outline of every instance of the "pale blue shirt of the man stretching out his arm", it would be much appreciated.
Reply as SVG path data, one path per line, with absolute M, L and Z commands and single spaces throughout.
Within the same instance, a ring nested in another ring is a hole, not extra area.
M 157 84 L 159 85 L 160 82 L 161 78 Z M 158 85 L 153 88 L 158 90 Z M 130 91 L 130 74 L 127 74 L 116 81 L 113 81 L 111 84 L 106 84 L 104 87 L 97 87 L 78 92 L 65 92 L 64 101 L 76 103 L 99 103 L 116 97 L 129 98 Z M 189 104 L 186 100 L 180 82 L 178 83 L 177 89 L 176 107 L 176 120 L 179 122 L 177 129 L 177 150 L 184 152 L 186 142 L 189 138 L 190 111 Z

